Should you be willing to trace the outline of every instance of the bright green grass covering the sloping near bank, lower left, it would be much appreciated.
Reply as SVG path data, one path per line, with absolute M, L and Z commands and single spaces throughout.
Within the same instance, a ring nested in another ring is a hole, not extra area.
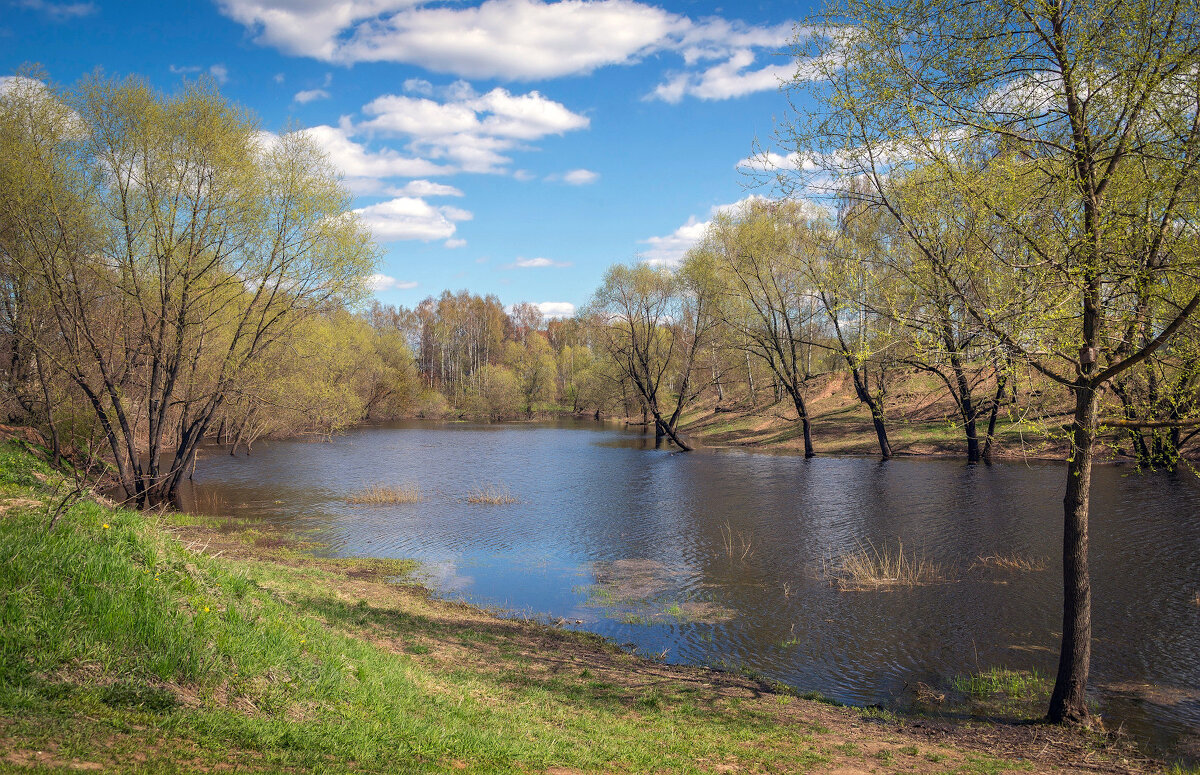
M 350 602 L 330 589 L 334 571 L 193 554 L 142 513 L 79 503 L 47 534 L 44 506 L 25 501 L 53 482 L 35 471 L 52 477 L 0 446 L 0 737 L 19 740 L 13 750 L 149 771 L 469 762 L 686 773 L 709 761 L 822 761 L 808 731 L 702 701 L 683 683 L 630 692 L 577 673 L 546 678 L 504 648 L 511 626 Z M 410 570 L 344 565 L 337 572 Z M 488 642 L 503 663 L 487 669 L 469 659 L 451 669 L 430 653 Z

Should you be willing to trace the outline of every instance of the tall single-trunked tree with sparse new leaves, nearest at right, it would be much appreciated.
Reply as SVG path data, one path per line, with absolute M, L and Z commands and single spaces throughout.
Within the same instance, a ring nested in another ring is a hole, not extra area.
M 804 169 L 834 186 L 866 180 L 864 198 L 925 251 L 966 313 L 1073 398 L 1049 719 L 1086 721 L 1098 399 L 1200 305 L 1192 282 L 1200 271 L 1198 6 L 839 0 L 824 22 L 797 43 L 805 62 L 793 88 L 811 90 L 817 107 L 782 128 L 797 156 L 779 180 L 817 185 Z M 814 72 L 822 77 L 806 80 Z M 982 214 L 995 246 L 984 271 L 1000 282 L 964 280 L 942 263 L 916 228 L 928 214 L 888 193 L 887 181 L 914 167 Z

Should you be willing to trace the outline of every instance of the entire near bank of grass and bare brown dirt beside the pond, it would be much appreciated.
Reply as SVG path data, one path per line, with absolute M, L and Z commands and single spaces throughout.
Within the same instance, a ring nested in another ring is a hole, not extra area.
M 1154 771 L 1043 725 L 902 717 L 432 599 L 397 560 L 84 500 L 0 446 L 0 770 Z

